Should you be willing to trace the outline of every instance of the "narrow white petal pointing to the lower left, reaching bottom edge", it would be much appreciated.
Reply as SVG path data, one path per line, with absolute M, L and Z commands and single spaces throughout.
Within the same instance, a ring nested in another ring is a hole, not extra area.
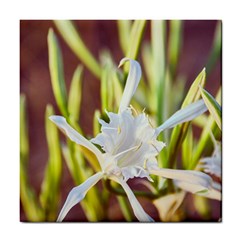
M 84 183 L 73 188 L 70 191 L 67 200 L 64 203 L 63 208 L 58 216 L 57 222 L 61 222 L 65 218 L 69 210 L 85 197 L 88 190 L 103 177 L 103 174 L 104 174 L 103 172 L 98 172 L 94 174 L 93 176 L 88 178 Z

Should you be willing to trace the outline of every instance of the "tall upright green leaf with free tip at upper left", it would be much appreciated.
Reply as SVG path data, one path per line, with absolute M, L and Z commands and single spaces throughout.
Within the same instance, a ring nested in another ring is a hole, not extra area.
M 67 92 L 64 80 L 62 53 L 57 37 L 52 29 L 48 31 L 48 55 L 53 93 L 62 115 L 67 117 Z

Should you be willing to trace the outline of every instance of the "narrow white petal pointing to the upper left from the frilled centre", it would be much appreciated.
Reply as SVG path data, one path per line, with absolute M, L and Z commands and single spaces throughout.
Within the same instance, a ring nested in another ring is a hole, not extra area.
M 84 146 L 85 148 L 92 151 L 98 161 L 100 166 L 103 166 L 103 156 L 102 153 L 98 150 L 96 146 L 94 146 L 90 141 L 88 141 L 86 138 L 84 138 L 81 134 L 79 134 L 75 129 L 73 129 L 66 121 L 66 119 L 62 116 L 50 116 L 49 119 L 54 122 L 61 130 L 64 131 L 64 133 L 75 143 Z

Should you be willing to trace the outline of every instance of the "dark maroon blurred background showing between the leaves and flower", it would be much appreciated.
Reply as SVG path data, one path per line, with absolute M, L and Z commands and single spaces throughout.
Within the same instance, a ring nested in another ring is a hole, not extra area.
M 118 25 L 114 20 L 80 20 L 74 24 L 81 34 L 82 40 L 96 59 L 102 49 L 111 52 L 115 63 L 118 63 L 124 53 L 121 50 Z M 167 21 L 169 24 L 169 21 Z M 209 64 L 209 56 L 212 53 L 214 37 L 218 21 L 213 20 L 186 20 L 182 21 L 182 41 L 179 52 L 179 61 L 176 68 L 176 75 L 183 75 L 186 79 L 186 91 L 192 81 Z M 45 20 L 21 20 L 20 21 L 20 91 L 24 93 L 27 101 L 27 118 L 29 129 L 29 162 L 28 175 L 29 183 L 39 195 L 41 183 L 44 177 L 45 167 L 48 161 L 48 147 L 45 135 L 45 108 L 48 103 L 54 107 L 55 113 L 58 111 L 49 73 L 47 36 L 49 28 L 53 28 L 58 36 L 59 45 L 62 50 L 64 74 L 66 88 L 69 90 L 72 75 L 81 60 L 72 52 L 59 34 L 53 21 Z M 168 41 L 168 28 L 166 41 Z M 150 41 L 151 29 L 150 21 L 147 21 L 142 43 Z M 137 60 L 142 65 L 142 56 Z M 209 67 L 210 68 L 210 67 Z M 145 73 L 144 73 L 145 74 Z M 211 69 L 207 68 L 207 81 L 205 88 L 215 96 L 221 83 L 221 55 L 215 61 Z M 93 136 L 93 115 L 96 109 L 101 109 L 100 101 L 100 81 L 86 68 L 83 70 L 83 95 L 81 105 L 81 118 L 79 124 L 86 136 Z M 63 174 L 61 180 L 61 202 L 62 206 L 67 194 L 75 186 L 71 175 L 63 162 Z M 191 198 L 189 195 L 188 198 Z M 118 203 L 113 199 L 112 207 L 109 211 L 109 220 L 122 221 L 123 216 Z M 142 200 L 143 207 L 145 200 Z M 212 208 L 211 220 L 216 221 L 221 215 L 221 203 L 210 202 Z M 157 210 L 154 206 L 149 207 L 151 216 L 158 218 Z M 200 220 L 199 214 L 192 206 L 188 206 L 189 216 L 186 221 Z M 26 215 L 21 205 L 20 220 L 27 221 Z M 60 209 L 60 208 L 59 208 Z M 86 221 L 86 217 L 80 205 L 75 206 L 67 215 L 67 221 Z

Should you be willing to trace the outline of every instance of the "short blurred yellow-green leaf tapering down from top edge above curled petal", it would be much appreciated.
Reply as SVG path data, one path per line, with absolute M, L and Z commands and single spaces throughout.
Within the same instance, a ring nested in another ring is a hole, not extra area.
M 130 32 L 131 32 L 131 21 L 130 20 L 118 20 L 118 35 L 120 46 L 124 55 L 127 55 L 129 39 L 130 39 Z

